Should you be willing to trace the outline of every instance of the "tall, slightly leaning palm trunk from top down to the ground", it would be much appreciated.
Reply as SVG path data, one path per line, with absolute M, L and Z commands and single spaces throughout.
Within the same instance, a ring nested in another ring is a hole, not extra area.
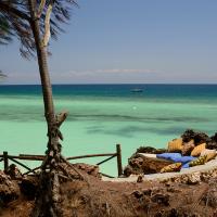
M 35 38 L 40 79 L 42 86 L 44 116 L 48 125 L 47 157 L 41 166 L 39 192 L 33 210 L 34 217 L 61 216 L 59 207 L 58 164 L 61 162 L 61 144 L 59 143 L 59 125 L 53 105 L 52 87 L 48 69 L 47 47 L 41 44 L 39 21 L 36 18 L 35 1 L 28 0 L 31 16 L 31 29 Z

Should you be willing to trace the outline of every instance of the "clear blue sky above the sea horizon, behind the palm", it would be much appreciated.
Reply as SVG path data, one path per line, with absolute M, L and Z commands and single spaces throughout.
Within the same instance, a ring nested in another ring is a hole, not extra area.
M 50 42 L 54 84 L 216 84 L 216 0 L 80 0 Z M 18 42 L 0 47 L 1 84 L 38 84 Z

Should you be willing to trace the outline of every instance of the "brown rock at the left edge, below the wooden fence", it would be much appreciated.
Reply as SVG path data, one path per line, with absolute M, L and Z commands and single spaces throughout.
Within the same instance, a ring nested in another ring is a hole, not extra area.
M 0 203 L 7 204 L 20 195 L 20 188 L 10 176 L 0 170 Z

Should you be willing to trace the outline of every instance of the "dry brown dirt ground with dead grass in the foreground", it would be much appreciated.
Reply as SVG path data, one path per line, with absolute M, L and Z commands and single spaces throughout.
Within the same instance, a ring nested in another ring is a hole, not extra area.
M 217 217 L 217 179 L 180 182 L 108 182 L 87 175 L 61 187 L 64 217 Z M 0 216 L 27 217 L 34 200 L 21 194 Z

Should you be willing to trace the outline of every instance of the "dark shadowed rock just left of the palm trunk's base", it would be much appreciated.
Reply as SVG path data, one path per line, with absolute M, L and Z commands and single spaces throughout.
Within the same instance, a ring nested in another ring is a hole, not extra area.
M 38 177 L 27 176 L 22 179 L 20 183 L 21 192 L 27 196 L 28 200 L 34 200 L 39 184 Z

